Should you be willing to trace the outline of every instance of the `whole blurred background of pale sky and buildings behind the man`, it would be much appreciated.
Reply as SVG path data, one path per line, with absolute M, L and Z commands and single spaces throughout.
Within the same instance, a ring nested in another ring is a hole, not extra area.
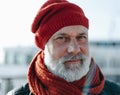
M 0 95 L 27 82 L 27 69 L 39 49 L 32 21 L 46 0 L 0 0 Z M 90 52 L 107 79 L 120 83 L 120 0 L 69 0 L 90 21 Z

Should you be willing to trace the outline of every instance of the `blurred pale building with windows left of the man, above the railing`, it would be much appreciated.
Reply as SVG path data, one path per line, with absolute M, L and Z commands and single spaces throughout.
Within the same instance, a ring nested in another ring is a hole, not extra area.
M 37 47 L 11 47 L 5 48 L 5 65 L 28 65 L 38 51 Z

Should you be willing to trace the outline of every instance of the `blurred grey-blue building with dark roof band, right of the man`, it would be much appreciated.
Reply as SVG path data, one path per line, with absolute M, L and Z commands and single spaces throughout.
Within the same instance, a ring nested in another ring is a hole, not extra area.
M 120 83 L 120 42 L 91 42 L 90 51 L 106 78 Z

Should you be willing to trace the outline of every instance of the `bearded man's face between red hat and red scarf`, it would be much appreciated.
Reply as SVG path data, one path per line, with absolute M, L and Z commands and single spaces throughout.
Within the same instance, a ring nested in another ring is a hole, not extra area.
M 45 65 L 55 75 L 75 81 L 89 70 L 88 30 L 67 26 L 57 31 L 45 46 Z

